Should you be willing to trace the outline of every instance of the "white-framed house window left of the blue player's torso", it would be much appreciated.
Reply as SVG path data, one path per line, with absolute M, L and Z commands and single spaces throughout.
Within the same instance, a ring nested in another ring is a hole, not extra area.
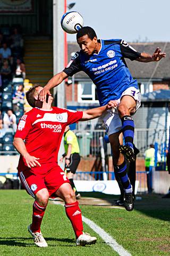
M 91 82 L 78 83 L 78 102 L 98 102 L 95 84 Z

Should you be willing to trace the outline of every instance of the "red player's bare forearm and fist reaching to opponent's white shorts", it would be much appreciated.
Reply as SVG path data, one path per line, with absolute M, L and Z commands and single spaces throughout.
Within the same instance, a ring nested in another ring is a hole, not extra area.
M 80 119 L 80 121 L 87 121 L 90 119 L 100 117 L 104 113 L 104 111 L 115 108 L 117 106 L 118 106 L 117 100 L 111 100 L 105 106 L 85 110 L 83 111 L 83 116 Z

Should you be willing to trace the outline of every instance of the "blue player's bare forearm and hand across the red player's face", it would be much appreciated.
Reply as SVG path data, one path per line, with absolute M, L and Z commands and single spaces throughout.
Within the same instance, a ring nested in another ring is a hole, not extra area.
M 45 101 L 46 100 L 46 95 L 52 95 L 50 94 L 50 89 L 54 88 L 55 86 L 61 84 L 65 78 L 68 76 L 62 71 L 55 76 L 53 76 L 48 83 L 44 86 L 43 90 L 40 91 L 39 94 L 39 99 L 40 101 Z

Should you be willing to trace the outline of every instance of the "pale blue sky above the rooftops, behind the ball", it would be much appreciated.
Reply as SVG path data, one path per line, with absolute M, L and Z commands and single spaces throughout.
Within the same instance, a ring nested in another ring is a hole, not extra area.
M 128 42 L 170 42 L 170 0 L 67 0 L 98 38 Z M 67 34 L 67 41 L 76 35 Z

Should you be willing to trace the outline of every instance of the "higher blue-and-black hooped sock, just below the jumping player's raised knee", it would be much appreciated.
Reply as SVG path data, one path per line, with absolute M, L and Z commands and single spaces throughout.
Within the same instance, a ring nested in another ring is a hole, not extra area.
M 134 121 L 131 116 L 123 116 L 122 121 L 122 132 L 125 141 L 125 145 L 129 145 L 133 148 L 134 138 Z

